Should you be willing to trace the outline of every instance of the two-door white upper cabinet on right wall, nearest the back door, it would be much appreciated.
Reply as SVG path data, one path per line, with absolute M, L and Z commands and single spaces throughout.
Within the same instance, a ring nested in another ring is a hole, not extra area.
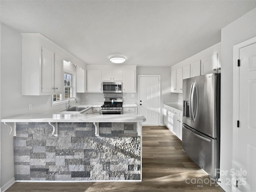
M 182 93 L 182 67 L 171 72 L 171 92 Z

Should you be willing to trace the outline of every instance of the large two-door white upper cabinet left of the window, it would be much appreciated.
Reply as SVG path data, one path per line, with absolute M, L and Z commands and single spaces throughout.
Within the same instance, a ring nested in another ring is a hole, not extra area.
M 48 41 L 41 34 L 22 34 L 22 95 L 63 91 L 63 59 Z

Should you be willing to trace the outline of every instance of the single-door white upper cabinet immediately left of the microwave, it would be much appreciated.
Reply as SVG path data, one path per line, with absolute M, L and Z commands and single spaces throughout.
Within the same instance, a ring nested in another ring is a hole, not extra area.
M 87 70 L 87 92 L 102 92 L 101 70 Z

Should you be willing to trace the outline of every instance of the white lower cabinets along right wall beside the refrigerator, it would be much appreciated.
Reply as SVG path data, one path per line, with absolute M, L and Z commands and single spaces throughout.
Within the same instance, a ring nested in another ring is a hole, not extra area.
M 182 111 L 164 105 L 164 124 L 182 140 Z

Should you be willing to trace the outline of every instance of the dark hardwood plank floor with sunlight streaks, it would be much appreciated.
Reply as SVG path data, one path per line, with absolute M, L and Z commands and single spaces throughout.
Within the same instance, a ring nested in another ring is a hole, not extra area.
M 6 192 L 224 192 L 216 185 L 182 152 L 170 130 L 143 126 L 142 182 L 16 182 Z

